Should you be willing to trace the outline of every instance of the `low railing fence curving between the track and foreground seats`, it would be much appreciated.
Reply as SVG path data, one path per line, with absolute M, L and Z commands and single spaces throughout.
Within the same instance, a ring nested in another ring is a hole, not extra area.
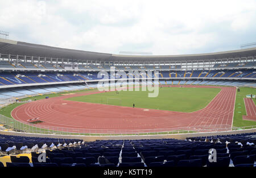
M 53 127 L 16 121 L 0 114 L 0 123 L 6 130 L 21 133 L 53 135 L 159 135 L 183 133 L 207 133 L 254 129 L 256 126 L 230 127 L 229 125 L 187 126 L 158 129 L 78 129 L 71 127 Z

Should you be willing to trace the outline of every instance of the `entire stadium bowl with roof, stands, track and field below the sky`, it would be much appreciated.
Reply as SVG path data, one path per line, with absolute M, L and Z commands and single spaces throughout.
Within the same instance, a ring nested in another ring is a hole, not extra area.
M 0 38 L 0 167 L 255 167 L 255 62 Z

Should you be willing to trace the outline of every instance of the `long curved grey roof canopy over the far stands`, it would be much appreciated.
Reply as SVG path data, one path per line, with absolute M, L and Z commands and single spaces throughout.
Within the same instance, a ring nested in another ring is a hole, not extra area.
M 154 62 L 154 61 L 193 61 L 230 59 L 239 57 L 251 57 L 256 55 L 255 48 L 238 49 L 233 51 L 201 53 L 193 55 L 162 55 L 162 56 L 133 56 L 114 55 L 110 53 L 80 51 L 76 49 L 65 49 L 50 47 L 47 45 L 16 42 L 14 40 L 0 39 L 0 53 L 11 55 L 26 55 L 40 57 L 55 57 L 60 59 L 97 60 L 97 61 L 130 61 L 130 62 Z

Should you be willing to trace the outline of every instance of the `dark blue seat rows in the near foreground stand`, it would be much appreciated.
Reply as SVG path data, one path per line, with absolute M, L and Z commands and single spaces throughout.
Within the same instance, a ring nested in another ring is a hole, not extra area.
M 96 140 L 26 138 L 0 135 L 2 152 L 32 150 L 26 156 L 11 157 L 7 166 L 82 166 L 82 167 L 240 167 L 255 165 L 256 133 L 216 135 L 177 139 Z M 35 150 L 34 146 L 38 148 Z M 13 147 L 15 146 L 15 147 Z M 217 152 L 217 162 L 209 161 L 209 150 Z M 7 151 L 9 150 L 9 151 Z M 36 152 L 37 151 L 37 152 Z M 46 152 L 46 163 L 38 163 Z M 1 158 L 0 158 L 1 160 Z M 243 164 L 243 165 L 241 165 Z

